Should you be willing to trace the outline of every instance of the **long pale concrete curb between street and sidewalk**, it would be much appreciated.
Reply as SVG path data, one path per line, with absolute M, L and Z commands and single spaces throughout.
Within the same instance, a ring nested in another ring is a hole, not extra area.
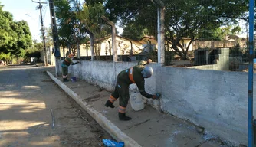
M 124 142 L 126 147 L 141 147 L 141 145 L 139 145 L 135 140 L 122 132 L 105 116 L 97 112 L 92 106 L 90 106 L 86 102 L 83 102 L 80 96 L 77 95 L 77 93 L 74 93 L 74 91 L 72 91 L 64 83 L 54 77 L 50 72 L 47 71 L 47 73 L 51 77 L 51 79 L 54 80 L 54 82 L 57 83 L 57 85 L 61 87 L 62 90 L 64 90 L 69 96 L 71 96 L 82 108 L 84 108 L 87 113 L 89 113 L 90 116 L 92 116 L 97 121 L 97 123 L 99 123 L 100 126 L 102 126 L 103 129 L 105 129 L 110 134 L 110 136 L 113 137 L 113 139 L 116 139 L 118 142 Z

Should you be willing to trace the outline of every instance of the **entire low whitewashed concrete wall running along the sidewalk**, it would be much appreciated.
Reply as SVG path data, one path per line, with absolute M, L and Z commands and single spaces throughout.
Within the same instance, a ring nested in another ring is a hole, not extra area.
M 107 90 L 113 90 L 121 70 L 136 64 L 81 62 L 70 67 L 71 73 Z M 151 101 L 154 106 L 203 126 L 207 133 L 235 145 L 247 145 L 248 73 L 150 66 L 154 74 L 146 79 L 146 91 L 162 93 L 159 101 Z

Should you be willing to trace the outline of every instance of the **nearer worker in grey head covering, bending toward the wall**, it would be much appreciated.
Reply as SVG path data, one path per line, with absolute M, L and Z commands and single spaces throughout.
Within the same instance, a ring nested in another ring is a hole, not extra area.
M 130 67 L 130 69 L 121 71 L 117 76 L 117 85 L 114 92 L 110 95 L 109 100 L 107 100 L 105 106 L 114 108 L 114 101 L 118 98 L 119 100 L 119 119 L 120 120 L 130 120 L 132 119 L 129 116 L 126 116 L 126 106 L 129 100 L 129 85 L 136 83 L 139 93 L 146 98 L 157 99 L 161 96 L 160 93 L 156 95 L 151 95 L 145 91 L 145 78 L 149 78 L 153 75 L 153 69 L 151 67 L 145 67 L 146 64 L 149 64 L 152 60 L 139 61 L 138 65 Z

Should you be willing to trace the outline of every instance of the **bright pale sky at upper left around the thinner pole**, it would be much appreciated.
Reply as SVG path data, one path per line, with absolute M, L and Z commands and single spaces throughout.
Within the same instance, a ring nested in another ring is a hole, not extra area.
M 41 41 L 41 19 L 40 19 L 40 10 L 38 9 L 39 0 L 0 0 L 1 5 L 4 11 L 8 11 L 13 15 L 15 21 L 27 21 L 28 26 L 31 31 L 32 39 Z M 47 2 L 43 5 L 42 16 L 44 21 L 44 27 L 51 26 L 50 11 L 48 0 L 41 0 L 41 2 Z

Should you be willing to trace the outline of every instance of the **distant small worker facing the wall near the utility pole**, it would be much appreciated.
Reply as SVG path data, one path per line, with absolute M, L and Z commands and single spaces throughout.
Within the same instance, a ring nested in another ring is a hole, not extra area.
M 71 53 L 67 57 L 65 57 L 64 61 L 61 64 L 63 82 L 68 82 L 69 81 L 69 80 L 67 80 L 68 67 L 70 65 L 75 65 L 75 64 L 79 63 L 79 61 L 73 63 L 73 61 L 72 61 L 73 58 L 74 58 L 74 54 Z

